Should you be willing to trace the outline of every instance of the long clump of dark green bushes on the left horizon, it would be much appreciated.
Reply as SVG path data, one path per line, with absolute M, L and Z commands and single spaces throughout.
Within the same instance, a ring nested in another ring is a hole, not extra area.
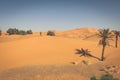
M 16 28 L 9 28 L 7 30 L 7 33 L 9 35 L 13 35 L 13 34 L 17 34 L 17 35 L 26 35 L 26 34 L 32 34 L 32 30 L 27 30 L 27 31 L 24 31 L 24 30 L 18 30 Z

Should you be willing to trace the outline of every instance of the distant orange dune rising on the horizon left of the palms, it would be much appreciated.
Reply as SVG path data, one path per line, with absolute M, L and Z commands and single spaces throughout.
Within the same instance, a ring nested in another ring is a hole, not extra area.
M 68 37 L 68 38 L 85 38 L 87 36 L 94 35 L 98 32 L 96 28 L 76 28 L 67 31 L 53 30 L 56 36 Z

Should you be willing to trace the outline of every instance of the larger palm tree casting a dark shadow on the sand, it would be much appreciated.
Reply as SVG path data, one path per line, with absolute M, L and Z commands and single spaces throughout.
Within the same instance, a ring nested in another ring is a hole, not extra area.
M 109 29 L 100 29 L 97 36 L 100 38 L 99 45 L 102 45 L 101 61 L 103 61 L 105 48 L 109 45 L 109 40 L 111 40 L 113 35 Z

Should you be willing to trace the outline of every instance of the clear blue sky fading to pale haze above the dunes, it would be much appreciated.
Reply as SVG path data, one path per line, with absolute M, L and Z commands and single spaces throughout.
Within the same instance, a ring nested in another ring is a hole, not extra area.
M 120 0 L 0 0 L 0 29 L 120 29 Z

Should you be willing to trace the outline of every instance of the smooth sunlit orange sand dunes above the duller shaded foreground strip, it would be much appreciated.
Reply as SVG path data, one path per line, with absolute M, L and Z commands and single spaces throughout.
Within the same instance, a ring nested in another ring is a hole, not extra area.
M 83 39 L 83 34 L 92 35 L 97 32 L 94 28 L 82 28 L 69 31 L 56 31 L 55 37 L 40 36 L 39 32 L 32 35 L 2 35 L 0 36 L 0 72 L 11 68 L 31 65 L 70 65 L 75 62 L 81 64 L 83 60 L 90 65 L 102 63 L 103 65 L 120 65 L 120 40 L 118 48 L 114 47 L 114 41 L 110 41 L 112 47 L 106 47 L 105 61 L 95 58 L 79 57 L 76 49 L 88 49 L 91 54 L 101 58 L 102 47 L 98 46 L 98 38 L 90 37 Z M 77 38 L 65 37 L 68 35 Z M 80 38 L 78 38 L 81 36 Z M 119 75 L 119 74 L 117 74 Z

